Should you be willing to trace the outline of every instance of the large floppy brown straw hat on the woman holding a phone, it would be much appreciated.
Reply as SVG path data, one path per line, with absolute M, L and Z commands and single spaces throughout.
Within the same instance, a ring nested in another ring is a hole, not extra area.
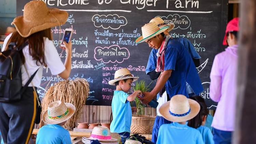
M 14 18 L 18 33 L 26 38 L 29 35 L 66 23 L 68 13 L 59 9 L 48 9 L 43 1 L 30 1 L 24 6 L 23 16 Z

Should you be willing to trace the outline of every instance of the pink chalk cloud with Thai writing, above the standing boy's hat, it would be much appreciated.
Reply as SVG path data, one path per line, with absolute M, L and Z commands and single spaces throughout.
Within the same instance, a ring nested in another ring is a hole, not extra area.
M 94 59 L 103 63 L 122 63 L 130 57 L 130 52 L 127 48 L 120 48 L 118 45 L 109 47 L 96 47 L 94 49 Z

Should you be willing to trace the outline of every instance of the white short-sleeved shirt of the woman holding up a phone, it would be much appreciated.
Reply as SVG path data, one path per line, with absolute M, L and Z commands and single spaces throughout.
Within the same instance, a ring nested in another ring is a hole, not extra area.
M 2 51 L 4 51 L 5 46 L 8 43 L 8 40 L 11 38 L 11 35 L 12 34 L 9 34 L 5 38 Z M 41 79 L 43 75 L 43 65 L 40 62 L 38 62 L 38 65 L 39 65 L 38 66 L 36 64 L 36 60 L 33 60 L 32 56 L 29 55 L 28 45 L 23 48 L 23 54 L 25 57 L 25 65 L 27 67 L 27 70 L 30 76 L 39 68 L 39 70 L 37 71 L 37 73 L 35 74 L 32 80 L 34 86 L 39 87 L 41 84 Z M 45 63 L 47 64 L 47 67 L 51 70 L 51 73 L 53 75 L 60 74 L 66 69 L 59 57 L 56 47 L 54 46 L 53 42 L 48 38 L 44 38 L 44 57 L 45 57 Z M 29 76 L 25 70 L 24 65 L 22 65 L 21 73 L 22 73 L 22 86 L 24 86 L 29 80 Z M 28 86 L 32 86 L 31 83 Z

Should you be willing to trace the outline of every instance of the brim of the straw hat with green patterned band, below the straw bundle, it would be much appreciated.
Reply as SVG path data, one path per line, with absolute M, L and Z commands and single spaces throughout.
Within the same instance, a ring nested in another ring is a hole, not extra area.
M 42 118 L 43 122 L 45 124 L 55 125 L 55 124 L 63 123 L 64 121 L 67 121 L 69 118 L 71 118 L 75 113 L 75 106 L 71 103 L 65 103 L 65 105 L 68 107 L 68 110 L 69 110 L 69 113 L 67 115 L 58 119 L 49 119 L 48 112 L 45 111 Z

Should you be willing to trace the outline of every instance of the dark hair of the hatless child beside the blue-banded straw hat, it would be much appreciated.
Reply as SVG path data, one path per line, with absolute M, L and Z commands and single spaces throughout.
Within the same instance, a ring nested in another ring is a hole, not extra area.
M 192 128 L 198 128 L 202 125 L 202 118 L 203 116 L 207 116 L 209 114 L 209 110 L 207 109 L 207 105 L 204 102 L 204 99 L 200 96 L 190 97 L 190 99 L 193 99 L 197 101 L 200 105 L 200 111 L 194 118 L 190 119 L 188 121 L 188 126 Z

